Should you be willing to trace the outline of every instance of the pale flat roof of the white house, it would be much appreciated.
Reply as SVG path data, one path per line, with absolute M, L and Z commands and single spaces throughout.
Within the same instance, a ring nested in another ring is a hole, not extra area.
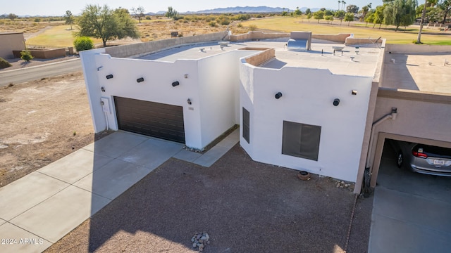
M 223 48 L 221 48 L 217 42 L 180 46 L 178 48 L 171 48 L 166 51 L 142 56 L 138 59 L 174 62 L 179 59 L 196 60 L 245 47 L 274 48 L 276 50 L 276 58 L 269 60 L 259 67 L 273 69 L 280 69 L 284 66 L 309 67 L 315 69 L 328 69 L 333 74 L 373 77 L 376 70 L 378 54 L 381 51 L 381 49 L 374 44 L 361 45 L 359 48 L 356 48 L 356 46 L 345 46 L 344 44 L 317 39 L 312 39 L 311 51 L 288 51 L 286 47 L 288 39 L 289 38 L 287 37 L 261 41 L 239 41 L 230 43 Z M 342 51 L 335 51 L 334 55 L 334 46 L 341 46 L 343 49 Z M 322 54 L 321 50 L 323 51 Z

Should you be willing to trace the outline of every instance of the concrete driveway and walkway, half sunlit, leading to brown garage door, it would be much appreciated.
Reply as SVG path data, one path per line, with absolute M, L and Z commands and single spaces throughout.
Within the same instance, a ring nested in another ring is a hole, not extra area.
M 0 252 L 42 252 L 171 157 L 210 167 L 239 129 L 206 153 L 117 131 L 0 188 Z

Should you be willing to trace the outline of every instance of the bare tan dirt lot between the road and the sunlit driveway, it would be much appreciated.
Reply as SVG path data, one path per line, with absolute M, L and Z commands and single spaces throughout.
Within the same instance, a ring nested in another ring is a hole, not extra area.
M 0 88 L 0 187 L 94 141 L 82 72 Z

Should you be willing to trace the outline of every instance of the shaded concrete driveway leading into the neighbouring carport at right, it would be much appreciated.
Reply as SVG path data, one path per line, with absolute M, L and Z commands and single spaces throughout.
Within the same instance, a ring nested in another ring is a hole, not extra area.
M 395 165 L 386 145 L 374 192 L 369 252 L 450 252 L 451 178 Z

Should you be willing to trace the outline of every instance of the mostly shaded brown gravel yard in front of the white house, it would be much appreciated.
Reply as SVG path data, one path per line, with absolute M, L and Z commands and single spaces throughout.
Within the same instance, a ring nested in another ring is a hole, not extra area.
M 197 252 L 190 240 L 204 231 L 204 252 L 343 252 L 352 190 L 296 175 L 253 162 L 240 145 L 209 168 L 171 158 L 47 252 Z M 362 215 L 353 252 L 367 249 Z

